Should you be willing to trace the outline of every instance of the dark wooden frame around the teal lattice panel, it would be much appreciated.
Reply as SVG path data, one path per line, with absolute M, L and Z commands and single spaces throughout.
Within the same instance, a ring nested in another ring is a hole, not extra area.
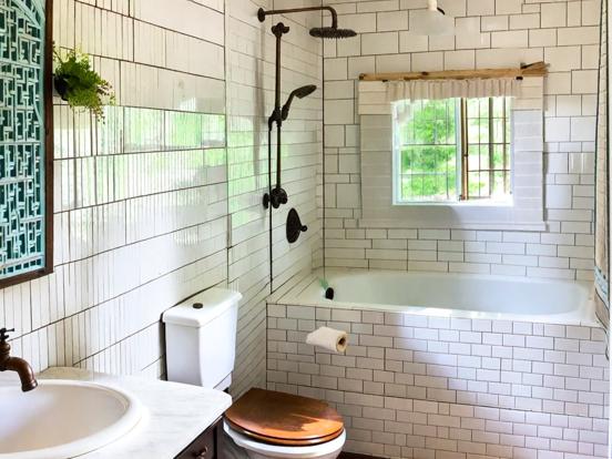
M 44 267 L 0 279 L 0 289 L 53 272 L 53 0 L 44 4 Z M 11 325 L 11 324 L 7 324 Z

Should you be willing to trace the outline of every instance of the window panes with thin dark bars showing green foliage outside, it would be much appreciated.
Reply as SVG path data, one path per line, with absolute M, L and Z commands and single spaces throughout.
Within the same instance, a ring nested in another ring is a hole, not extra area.
M 510 98 L 398 102 L 394 203 L 509 201 Z

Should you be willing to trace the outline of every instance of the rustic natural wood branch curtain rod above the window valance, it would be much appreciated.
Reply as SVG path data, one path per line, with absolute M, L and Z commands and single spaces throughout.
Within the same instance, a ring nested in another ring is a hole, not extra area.
M 410 80 L 468 80 L 491 78 L 544 76 L 548 73 L 545 62 L 534 62 L 518 69 L 482 69 L 482 70 L 445 70 L 440 72 L 396 72 L 396 73 L 361 73 L 361 81 L 410 81 Z

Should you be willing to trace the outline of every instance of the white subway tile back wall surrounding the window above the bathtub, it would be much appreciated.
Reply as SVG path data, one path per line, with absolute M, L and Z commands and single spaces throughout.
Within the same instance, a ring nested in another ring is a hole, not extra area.
M 440 0 L 457 18 L 458 32 L 430 38 L 408 30 L 425 1 L 328 3 L 338 8 L 340 23 L 360 33 L 325 43 L 326 265 L 591 279 L 600 1 Z M 359 73 L 540 60 L 550 63 L 542 145 L 545 231 L 447 230 L 431 237 L 429 227 L 359 222 Z

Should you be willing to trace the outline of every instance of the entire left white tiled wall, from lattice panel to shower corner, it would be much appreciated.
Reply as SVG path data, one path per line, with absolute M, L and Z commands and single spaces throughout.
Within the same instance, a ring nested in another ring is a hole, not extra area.
M 17 328 L 13 351 L 35 370 L 162 377 L 162 313 L 228 285 L 244 295 L 232 390 L 265 386 L 269 217 L 261 200 L 275 54 L 272 19 L 261 24 L 258 7 L 273 2 L 54 1 L 55 44 L 90 53 L 118 105 L 95 125 L 54 101 L 55 272 L 0 290 L 0 325 Z M 282 19 L 292 27 L 285 98 L 322 86 L 323 47 L 307 33 L 320 16 Z M 286 187 L 310 230 L 295 247 L 277 244 L 279 283 L 322 258 L 320 105 L 317 94 L 295 103 L 286 124 Z M 276 239 L 285 215 L 275 215 Z

